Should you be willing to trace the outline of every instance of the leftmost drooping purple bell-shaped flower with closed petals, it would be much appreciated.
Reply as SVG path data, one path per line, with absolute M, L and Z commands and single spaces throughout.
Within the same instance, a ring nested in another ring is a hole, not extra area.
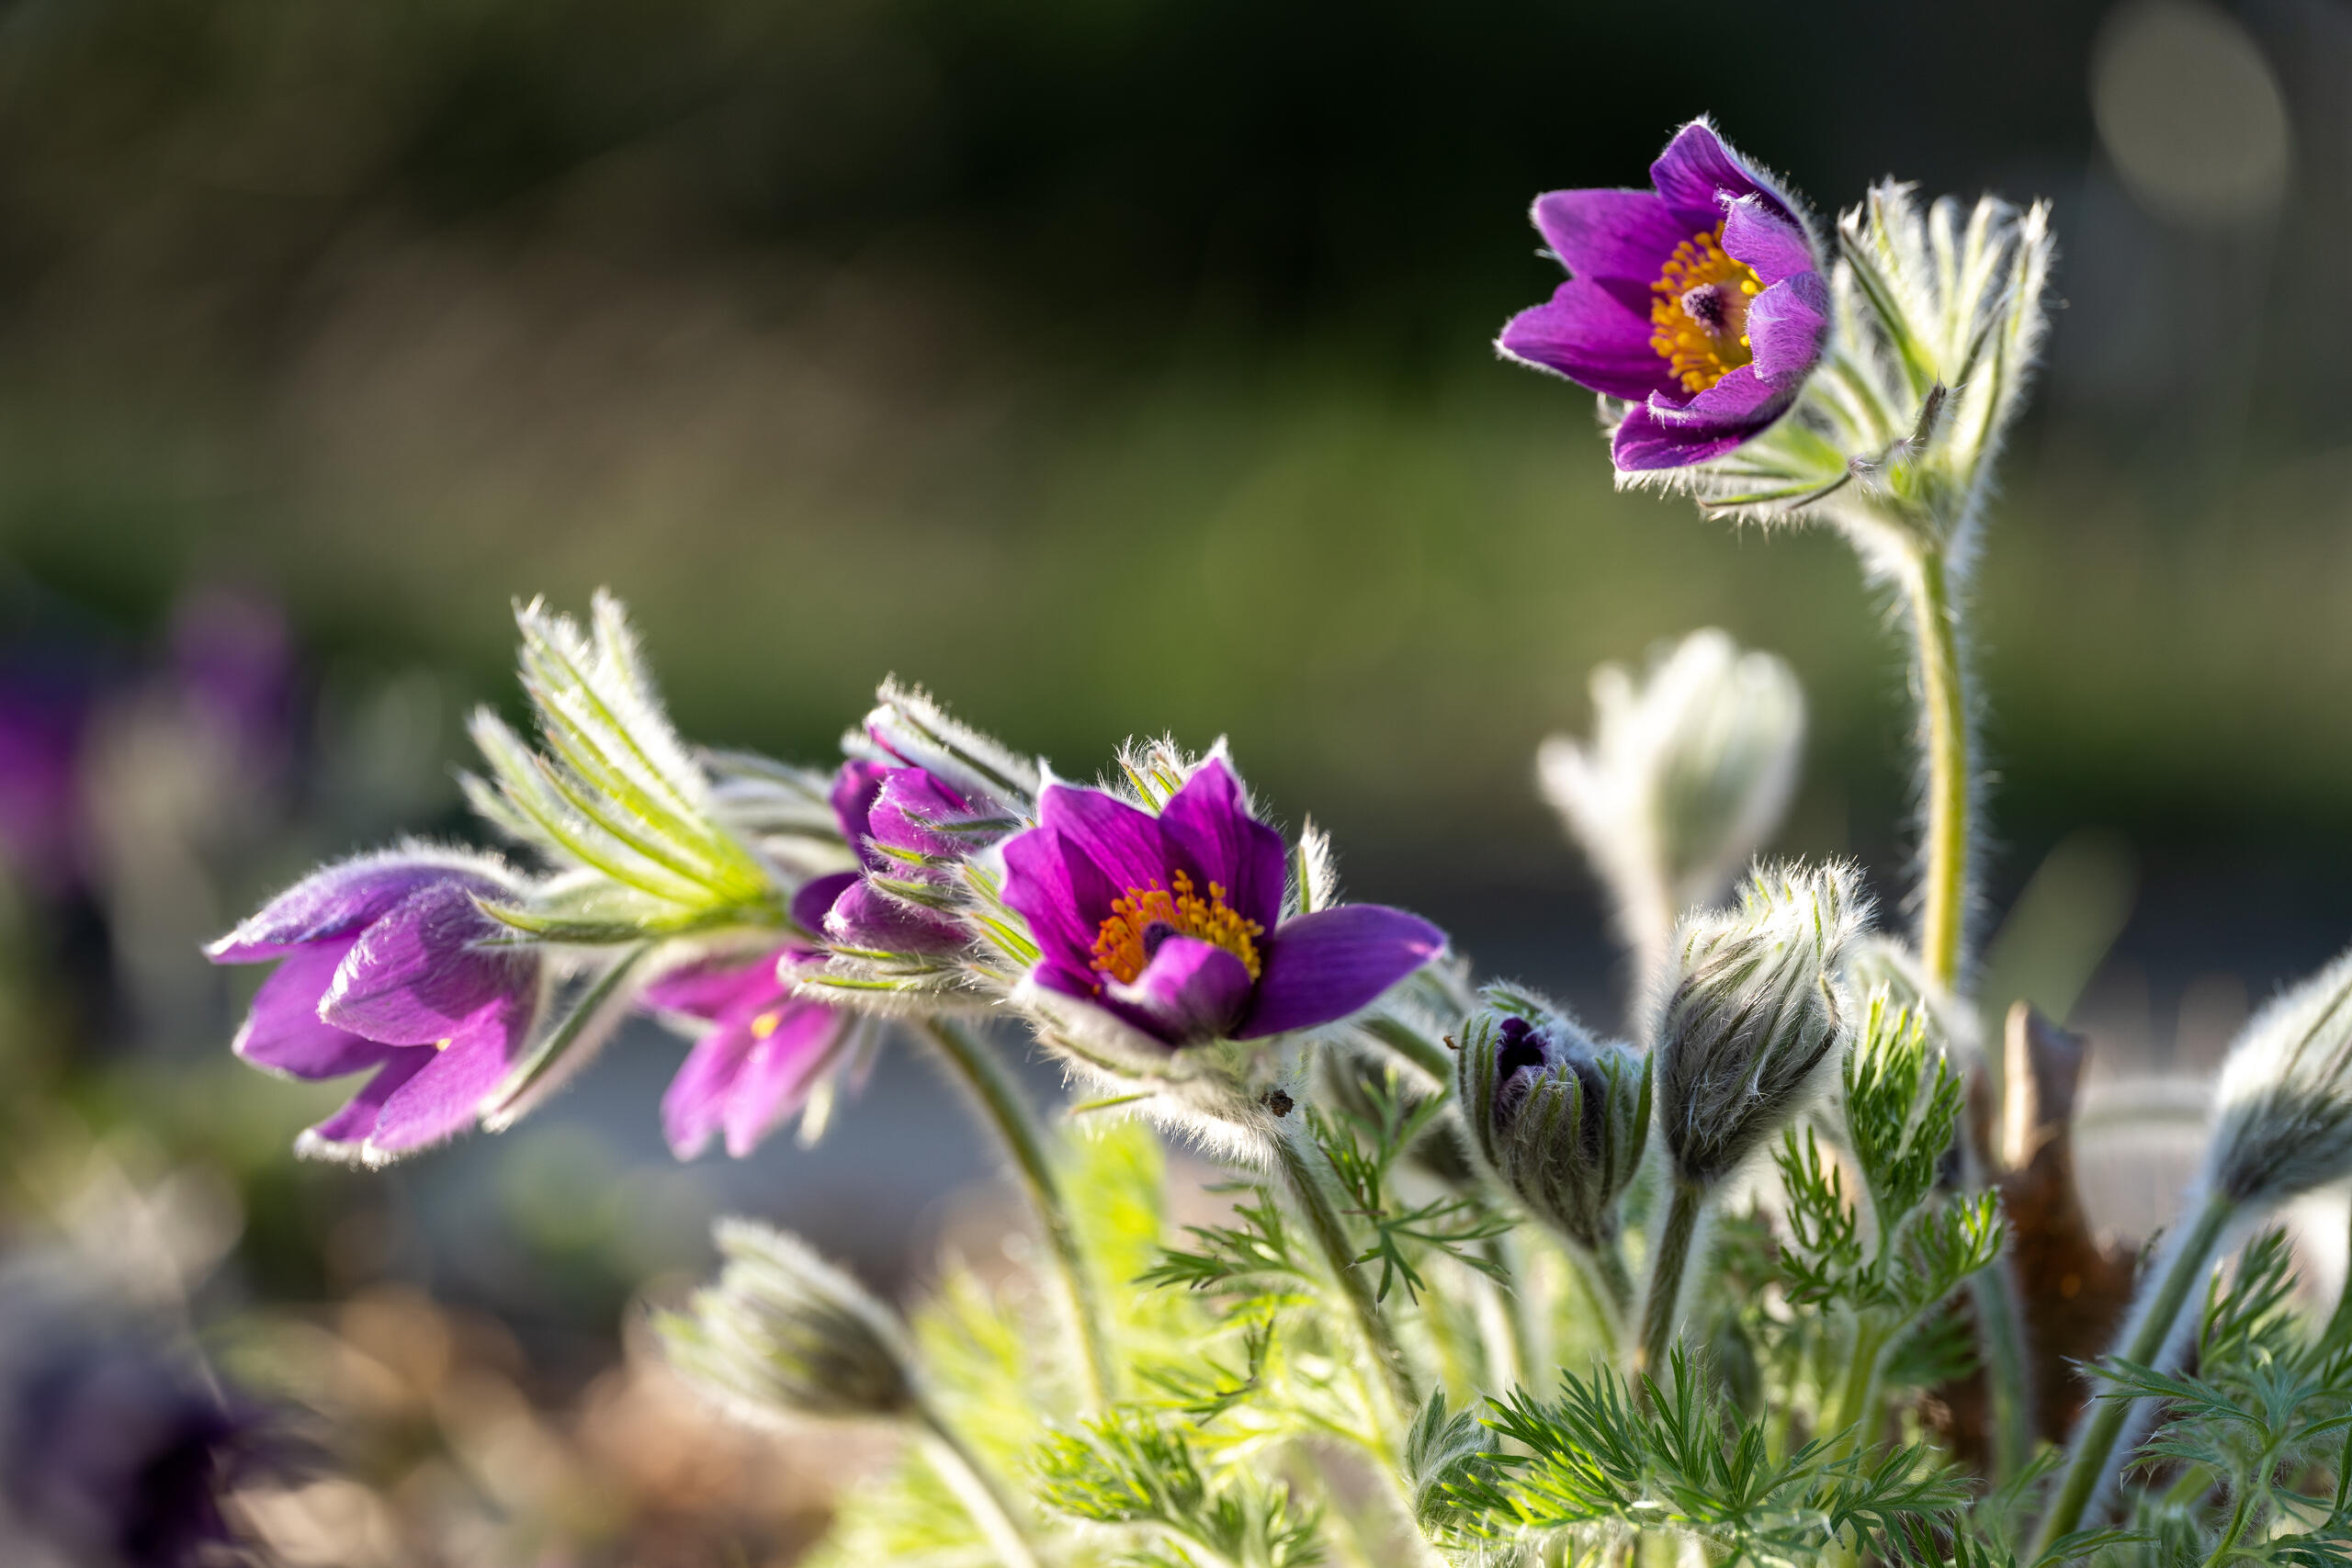
M 313 872 L 205 950 L 278 964 L 238 1056 L 296 1079 L 372 1072 L 303 1152 L 376 1164 L 473 1126 L 539 1013 L 539 959 L 492 945 L 477 903 L 517 891 L 494 856 L 402 846 Z

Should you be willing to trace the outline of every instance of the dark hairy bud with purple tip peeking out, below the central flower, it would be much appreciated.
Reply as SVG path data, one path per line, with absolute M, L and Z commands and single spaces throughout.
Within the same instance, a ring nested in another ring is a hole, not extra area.
M 1486 999 L 1456 1058 L 1470 1147 L 1529 1213 L 1602 1251 L 1649 1140 L 1649 1058 L 1517 992 Z

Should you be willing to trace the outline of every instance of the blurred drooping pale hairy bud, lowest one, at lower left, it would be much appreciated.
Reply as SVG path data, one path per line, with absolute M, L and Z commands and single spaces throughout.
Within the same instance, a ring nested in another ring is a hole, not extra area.
M 915 1352 L 866 1286 L 767 1225 L 720 1220 L 713 1234 L 720 1281 L 654 1319 L 687 1382 L 755 1422 L 915 1410 Z

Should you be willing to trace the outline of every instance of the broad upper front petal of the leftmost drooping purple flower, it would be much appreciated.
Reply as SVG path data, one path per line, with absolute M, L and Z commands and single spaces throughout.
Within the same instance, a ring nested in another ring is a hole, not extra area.
M 449 1039 L 487 1004 L 536 987 L 536 966 L 477 943 L 496 926 L 456 882 L 409 893 L 360 933 L 320 1018 L 390 1046 Z

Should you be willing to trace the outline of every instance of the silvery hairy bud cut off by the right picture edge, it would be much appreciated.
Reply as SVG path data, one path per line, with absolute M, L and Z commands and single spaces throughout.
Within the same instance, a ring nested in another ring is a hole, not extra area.
M 2260 1208 L 2352 1175 L 2352 952 L 2239 1032 L 2206 1175 L 2220 1197 Z

